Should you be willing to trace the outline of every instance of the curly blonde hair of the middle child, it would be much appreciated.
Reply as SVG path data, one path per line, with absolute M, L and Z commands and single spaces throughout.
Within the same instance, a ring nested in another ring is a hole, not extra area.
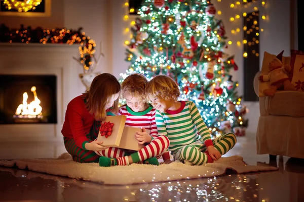
M 131 74 L 122 82 L 122 97 L 125 98 L 125 95 L 129 93 L 131 96 L 136 96 L 140 100 L 146 101 L 144 89 L 147 83 L 148 80 L 144 75 L 139 73 Z

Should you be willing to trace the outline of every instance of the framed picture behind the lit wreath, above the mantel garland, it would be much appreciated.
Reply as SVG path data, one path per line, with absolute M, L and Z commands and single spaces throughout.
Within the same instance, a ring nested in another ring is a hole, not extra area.
M 0 16 L 20 16 L 20 17 L 50 17 L 51 16 L 51 1 L 41 0 L 40 4 L 35 9 L 30 9 L 27 12 L 19 12 L 18 8 L 15 8 L 15 4 L 26 4 L 23 0 L 0 0 Z M 35 1 L 33 1 L 35 2 Z M 11 8 L 8 8 L 8 3 Z

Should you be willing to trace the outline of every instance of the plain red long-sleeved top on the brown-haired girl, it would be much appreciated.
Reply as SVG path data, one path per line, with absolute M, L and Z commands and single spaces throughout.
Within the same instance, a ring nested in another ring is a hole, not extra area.
M 93 126 L 95 117 L 85 107 L 82 95 L 73 98 L 67 105 L 61 133 L 64 137 L 73 138 L 76 145 L 85 148 L 85 143 L 92 140 L 86 137 Z

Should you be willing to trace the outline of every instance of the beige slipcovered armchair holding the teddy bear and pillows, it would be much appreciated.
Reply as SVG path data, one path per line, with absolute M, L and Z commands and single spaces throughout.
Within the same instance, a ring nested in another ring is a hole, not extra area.
M 263 89 L 270 84 L 258 81 L 259 75 L 267 74 L 268 64 L 274 57 L 264 53 L 262 69 L 254 78 L 260 110 L 257 154 L 269 154 L 271 159 L 277 155 L 304 159 L 304 92 L 277 91 L 273 97 L 264 96 Z M 283 57 L 283 64 L 290 64 L 290 57 Z

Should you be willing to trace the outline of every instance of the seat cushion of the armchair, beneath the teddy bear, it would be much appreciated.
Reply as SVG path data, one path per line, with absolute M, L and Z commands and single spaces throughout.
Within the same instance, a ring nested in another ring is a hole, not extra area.
M 265 109 L 271 115 L 304 117 L 304 93 L 278 91 L 265 99 Z

